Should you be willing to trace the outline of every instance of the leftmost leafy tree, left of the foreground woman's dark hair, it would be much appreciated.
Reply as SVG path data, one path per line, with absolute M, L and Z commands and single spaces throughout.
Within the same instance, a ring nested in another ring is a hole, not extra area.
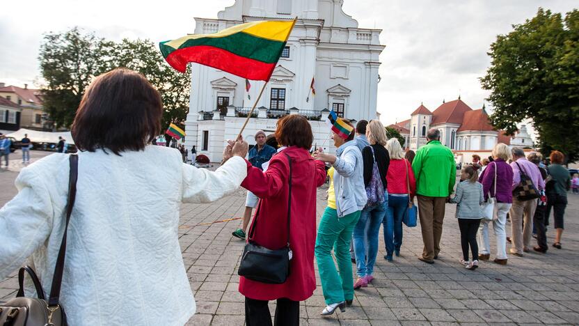
M 42 93 L 45 110 L 56 127 L 70 126 L 90 81 L 110 69 L 106 62 L 112 46 L 77 27 L 45 34 L 38 57 L 45 79 Z

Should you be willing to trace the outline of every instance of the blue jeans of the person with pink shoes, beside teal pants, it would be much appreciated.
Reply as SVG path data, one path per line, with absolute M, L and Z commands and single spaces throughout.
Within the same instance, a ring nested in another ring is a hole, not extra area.
M 364 208 L 354 227 L 354 252 L 358 277 L 372 275 L 374 272 L 378 254 L 378 233 L 387 208 L 388 201 L 372 208 Z

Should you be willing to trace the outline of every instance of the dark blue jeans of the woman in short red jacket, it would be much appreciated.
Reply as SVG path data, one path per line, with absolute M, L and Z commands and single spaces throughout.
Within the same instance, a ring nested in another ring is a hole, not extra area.
M 400 247 L 402 247 L 402 217 L 406 214 L 406 210 L 408 210 L 408 195 L 388 195 L 388 210 L 386 211 L 386 218 L 382 222 L 388 256 L 392 256 L 392 251 L 400 251 Z

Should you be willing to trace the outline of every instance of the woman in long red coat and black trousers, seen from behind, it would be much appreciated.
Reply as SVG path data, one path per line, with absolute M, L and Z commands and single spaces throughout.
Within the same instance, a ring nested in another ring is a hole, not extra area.
M 283 284 L 265 284 L 239 278 L 239 292 L 246 297 L 246 325 L 271 325 L 268 301 L 277 300 L 275 325 L 299 325 L 299 302 L 308 299 L 316 288 L 314 247 L 316 242 L 316 188 L 326 181 L 324 163 L 315 161 L 312 128 L 303 116 L 285 116 L 275 133 L 280 146 L 264 171 L 248 163 L 247 178 L 241 186 L 260 198 L 250 226 L 253 240 L 269 249 L 287 244 L 287 201 L 289 162 L 292 160 L 292 210 L 289 244 L 292 260 L 289 277 Z M 257 220 L 257 222 L 256 222 Z M 249 237 L 248 237 L 249 238 Z

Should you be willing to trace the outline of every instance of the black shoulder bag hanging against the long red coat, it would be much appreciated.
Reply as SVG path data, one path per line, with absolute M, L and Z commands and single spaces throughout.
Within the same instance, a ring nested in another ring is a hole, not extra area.
M 285 154 L 285 153 L 284 153 Z M 287 199 L 287 245 L 282 249 L 269 249 L 253 241 L 253 234 L 257 227 L 257 217 L 260 215 L 260 205 L 257 206 L 253 225 L 248 235 L 248 242 L 244 248 L 244 254 L 241 256 L 241 264 L 237 274 L 267 284 L 283 284 L 289 276 L 289 255 L 292 250 L 289 249 L 289 219 L 292 212 L 292 159 L 289 155 L 289 199 Z

